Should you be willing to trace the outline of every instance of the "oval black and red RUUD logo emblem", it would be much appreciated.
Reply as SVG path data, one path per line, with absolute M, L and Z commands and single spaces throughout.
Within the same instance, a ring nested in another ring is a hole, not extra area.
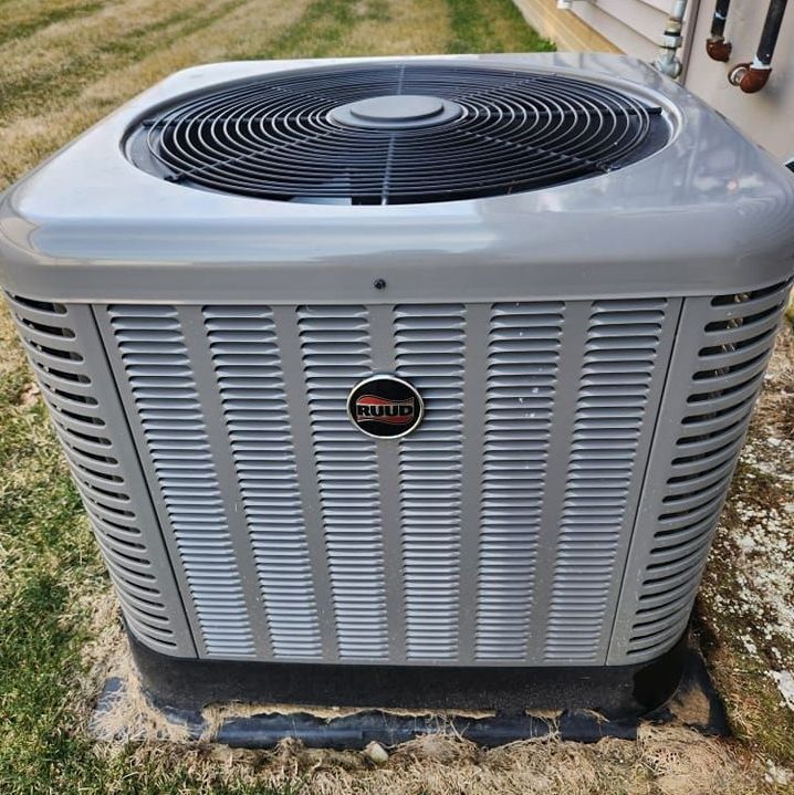
M 425 414 L 421 395 L 397 376 L 366 378 L 347 397 L 347 415 L 358 430 L 376 439 L 410 433 Z

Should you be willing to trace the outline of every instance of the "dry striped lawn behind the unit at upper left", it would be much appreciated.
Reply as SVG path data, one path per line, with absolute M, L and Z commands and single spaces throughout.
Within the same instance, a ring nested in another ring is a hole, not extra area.
M 14 9 L 32 13 L 24 2 Z M 483 14 L 499 31 L 497 49 L 546 46 L 516 24 L 518 12 Z M 0 39 L 0 189 L 123 101 L 185 66 L 245 57 L 443 52 L 455 35 L 441 0 L 97 3 L 94 13 L 6 43 Z

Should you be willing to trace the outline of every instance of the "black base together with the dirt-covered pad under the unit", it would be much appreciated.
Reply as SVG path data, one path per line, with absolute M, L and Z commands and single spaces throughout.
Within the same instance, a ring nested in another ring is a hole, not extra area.
M 703 660 L 686 640 L 648 665 L 575 669 L 199 662 L 158 655 L 132 637 L 130 646 L 146 697 L 169 721 L 182 724 L 189 739 L 208 739 L 201 709 L 209 703 L 261 703 L 261 713 L 244 716 L 234 716 L 232 707 L 209 738 L 233 747 L 271 747 L 289 736 L 310 747 L 362 749 L 372 741 L 395 745 L 432 732 L 453 732 L 483 746 L 551 735 L 595 742 L 635 739 L 641 722 L 729 733 Z M 95 728 L 124 687 L 108 680 Z M 364 709 L 328 720 L 309 707 L 283 714 L 268 711 L 268 703 Z M 394 714 L 389 708 L 418 714 Z M 443 720 L 427 716 L 441 710 Z M 456 710 L 494 714 L 472 718 Z

